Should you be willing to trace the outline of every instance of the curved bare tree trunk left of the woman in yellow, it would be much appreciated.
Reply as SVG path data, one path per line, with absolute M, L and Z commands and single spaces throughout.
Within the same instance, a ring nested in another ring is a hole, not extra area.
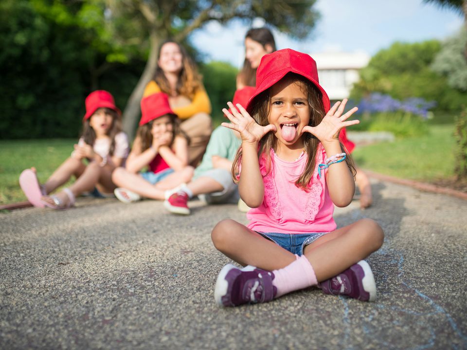
M 156 71 L 157 54 L 159 45 L 162 43 L 162 40 L 163 38 L 156 35 L 154 32 L 149 35 L 151 49 L 146 66 L 144 67 L 143 74 L 141 75 L 138 84 L 136 84 L 136 87 L 133 89 L 133 92 L 131 93 L 123 111 L 123 130 L 126 132 L 130 140 L 133 140 L 135 137 L 136 124 L 138 122 L 141 110 L 141 98 L 143 97 L 144 88 L 152 79 L 154 72 Z

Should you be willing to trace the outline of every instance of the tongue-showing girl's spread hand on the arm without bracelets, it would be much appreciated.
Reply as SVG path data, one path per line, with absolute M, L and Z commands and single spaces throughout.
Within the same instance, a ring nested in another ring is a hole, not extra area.
M 242 105 L 237 104 L 236 108 L 232 102 L 227 102 L 227 105 L 230 107 L 232 113 L 227 108 L 223 108 L 222 112 L 225 113 L 231 123 L 222 123 L 221 125 L 238 131 L 242 142 L 256 143 L 269 131 L 277 131 L 276 127 L 272 124 L 261 126 L 256 123 Z

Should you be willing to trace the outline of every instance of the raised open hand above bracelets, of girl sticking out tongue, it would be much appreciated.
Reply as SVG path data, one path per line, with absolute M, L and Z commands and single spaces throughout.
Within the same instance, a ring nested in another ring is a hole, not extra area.
M 304 132 L 309 132 L 323 143 L 339 140 L 339 132 L 342 128 L 360 123 L 359 120 L 346 121 L 358 110 L 357 107 L 354 107 L 347 113 L 342 114 L 346 103 L 347 99 L 343 99 L 342 102 L 336 102 L 332 108 L 329 109 L 329 112 L 324 116 L 321 123 L 317 126 L 305 126 L 302 129 L 302 134 Z

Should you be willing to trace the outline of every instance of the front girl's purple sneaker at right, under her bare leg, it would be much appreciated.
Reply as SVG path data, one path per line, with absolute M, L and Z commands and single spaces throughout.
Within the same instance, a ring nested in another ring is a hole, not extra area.
M 324 294 L 343 295 L 361 301 L 376 299 L 376 283 L 370 265 L 364 260 L 332 279 L 320 283 Z

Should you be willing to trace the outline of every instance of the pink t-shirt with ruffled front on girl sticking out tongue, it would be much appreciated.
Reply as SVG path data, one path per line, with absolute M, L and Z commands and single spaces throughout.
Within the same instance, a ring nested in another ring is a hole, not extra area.
M 295 186 L 305 169 L 307 154 L 288 162 L 277 157 L 271 149 L 271 171 L 267 174 L 266 159 L 259 165 L 264 181 L 264 200 L 258 208 L 247 213 L 248 228 L 259 232 L 312 233 L 336 229 L 332 217 L 334 204 L 327 190 L 325 176 L 318 178 L 318 164 L 326 153 L 320 146 L 309 192 Z

